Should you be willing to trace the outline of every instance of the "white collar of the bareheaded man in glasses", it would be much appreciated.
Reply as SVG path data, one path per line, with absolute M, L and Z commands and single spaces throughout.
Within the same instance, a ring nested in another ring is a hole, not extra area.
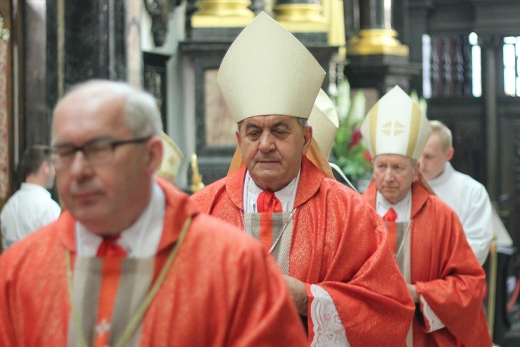
M 157 253 L 161 240 L 166 197 L 162 188 L 153 183 L 150 202 L 137 221 L 121 232 L 116 242 L 128 253 L 129 258 L 150 258 Z M 76 222 L 78 256 L 94 257 L 103 238 Z

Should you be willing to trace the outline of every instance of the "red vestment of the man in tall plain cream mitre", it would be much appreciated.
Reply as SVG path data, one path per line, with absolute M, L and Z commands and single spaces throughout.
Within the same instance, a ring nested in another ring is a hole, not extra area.
M 203 211 L 243 228 L 245 172 L 243 166 L 191 199 Z M 318 285 L 315 292 L 327 292 L 351 346 L 404 346 L 414 305 L 381 217 L 361 195 L 325 177 L 306 157 L 295 208 L 288 274 L 308 287 Z M 329 313 L 313 312 L 312 300 L 309 339 L 311 326 L 327 321 Z

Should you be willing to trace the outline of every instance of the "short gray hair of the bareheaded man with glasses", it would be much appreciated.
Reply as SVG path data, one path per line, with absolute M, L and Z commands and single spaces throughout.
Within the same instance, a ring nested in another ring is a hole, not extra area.
M 157 135 L 162 133 L 162 120 L 157 106 L 157 100 L 148 92 L 132 87 L 126 82 L 111 80 L 89 80 L 76 85 L 56 104 L 56 110 L 64 103 L 71 94 L 87 88 L 110 89 L 112 93 L 123 99 L 125 109 L 125 122 L 128 129 L 136 137 Z

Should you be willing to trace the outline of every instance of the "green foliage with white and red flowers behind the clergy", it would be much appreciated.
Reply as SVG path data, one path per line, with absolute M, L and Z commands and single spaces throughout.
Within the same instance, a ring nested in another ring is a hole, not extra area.
M 372 162 L 360 132 L 365 118 L 365 96 L 358 91 L 351 100 L 349 82 L 343 80 L 338 85 L 336 107 L 340 125 L 331 152 L 333 161 L 350 180 L 367 179 L 372 172 Z

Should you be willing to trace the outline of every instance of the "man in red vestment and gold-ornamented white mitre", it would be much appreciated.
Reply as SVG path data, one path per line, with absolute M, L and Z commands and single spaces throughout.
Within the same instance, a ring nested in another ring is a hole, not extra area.
M 417 160 L 431 127 L 394 87 L 361 125 L 373 180 L 363 196 L 383 216 L 417 309 L 406 346 L 492 346 L 482 305 L 485 273 L 458 217 L 433 195 Z

